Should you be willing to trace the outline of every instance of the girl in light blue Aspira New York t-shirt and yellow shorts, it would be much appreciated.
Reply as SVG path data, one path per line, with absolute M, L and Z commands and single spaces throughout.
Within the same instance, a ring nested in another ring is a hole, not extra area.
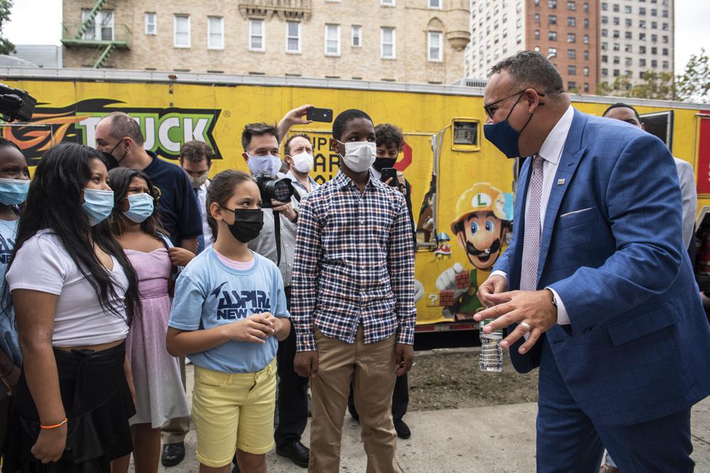
M 278 341 L 288 337 L 283 279 L 246 243 L 261 231 L 261 194 L 249 175 L 217 174 L 207 189 L 214 245 L 178 277 L 168 352 L 195 365 L 192 419 L 200 472 L 266 472 L 273 448 Z

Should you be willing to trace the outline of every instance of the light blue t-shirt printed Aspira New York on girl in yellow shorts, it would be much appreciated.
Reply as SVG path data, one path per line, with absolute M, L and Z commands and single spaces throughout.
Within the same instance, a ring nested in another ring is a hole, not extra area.
M 281 273 L 273 262 L 252 252 L 254 265 L 240 271 L 225 265 L 212 246 L 180 273 L 175 285 L 168 325 L 179 330 L 198 330 L 240 321 L 254 313 L 271 312 L 288 317 Z M 273 360 L 278 340 L 266 343 L 232 340 L 212 350 L 191 353 L 197 366 L 226 373 L 261 371 Z

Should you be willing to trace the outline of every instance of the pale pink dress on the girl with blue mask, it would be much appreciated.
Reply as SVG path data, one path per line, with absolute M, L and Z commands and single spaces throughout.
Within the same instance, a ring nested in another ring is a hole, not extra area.
M 190 414 L 182 388 L 178 358 L 168 353 L 165 338 L 170 318 L 170 257 L 160 248 L 146 253 L 124 250 L 138 274 L 143 316 L 133 321 L 126 353 L 131 361 L 136 386 L 136 415 L 130 423 L 150 423 L 158 428 L 169 419 Z

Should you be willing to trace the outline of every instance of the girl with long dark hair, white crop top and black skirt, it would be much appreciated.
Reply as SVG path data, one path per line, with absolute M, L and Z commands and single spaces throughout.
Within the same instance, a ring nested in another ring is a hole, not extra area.
M 113 204 L 99 152 L 67 143 L 45 153 L 4 289 L 23 355 L 6 472 L 109 473 L 132 450 L 124 340 L 141 308 L 106 221 Z

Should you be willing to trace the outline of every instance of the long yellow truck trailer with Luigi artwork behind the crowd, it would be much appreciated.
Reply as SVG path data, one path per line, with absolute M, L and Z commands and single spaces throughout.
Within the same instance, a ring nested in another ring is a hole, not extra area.
M 417 229 L 417 330 L 476 328 L 476 289 L 505 250 L 513 226 L 519 163 L 484 140 L 483 88 L 469 79 L 452 86 L 290 77 L 170 74 L 109 69 L 0 68 L 0 82 L 38 100 L 30 123 L 5 123 L 31 165 L 62 141 L 94 145 L 102 116 L 125 111 L 138 121 L 145 146 L 176 162 L 188 140 L 212 145 L 211 173 L 242 169 L 241 130 L 255 121 L 277 122 L 302 104 L 361 108 L 375 124 L 394 123 L 406 145 L 397 167 L 412 186 Z M 575 107 L 601 115 L 620 99 L 572 96 Z M 642 114 L 650 133 L 697 175 L 699 220 L 710 208 L 710 105 L 624 99 Z M 312 177 L 325 182 L 338 169 L 328 147 L 330 125 L 290 130 L 312 137 Z M 643 157 L 639 157 L 643 159 Z M 680 203 L 679 203 L 680 205 Z M 708 244 L 710 249 L 710 243 Z M 710 265 L 710 250 L 709 250 Z

